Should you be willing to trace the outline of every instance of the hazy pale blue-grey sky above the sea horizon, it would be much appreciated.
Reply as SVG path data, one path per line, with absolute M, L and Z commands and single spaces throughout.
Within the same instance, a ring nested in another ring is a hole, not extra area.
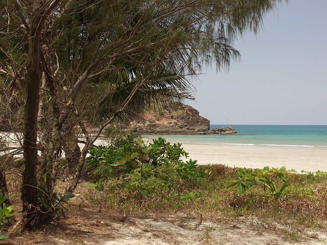
M 278 5 L 255 37 L 235 43 L 241 62 L 204 70 L 189 105 L 211 124 L 327 124 L 327 0 Z

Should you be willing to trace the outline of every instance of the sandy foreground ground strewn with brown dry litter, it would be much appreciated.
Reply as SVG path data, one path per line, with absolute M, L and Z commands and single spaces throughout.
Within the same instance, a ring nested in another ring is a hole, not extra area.
M 318 245 L 327 244 L 326 229 L 299 229 L 291 222 L 203 214 L 128 216 L 70 201 L 66 219 L 30 233 L 11 233 L 4 245 Z M 226 219 L 227 218 L 227 219 Z

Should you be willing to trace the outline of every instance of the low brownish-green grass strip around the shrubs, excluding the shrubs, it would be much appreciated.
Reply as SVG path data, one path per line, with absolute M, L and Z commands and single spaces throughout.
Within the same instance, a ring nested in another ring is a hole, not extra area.
M 177 188 L 167 193 L 156 192 L 144 196 L 139 204 L 136 192 L 122 188 L 90 191 L 89 201 L 120 212 L 140 215 L 160 210 L 161 213 L 202 213 L 206 216 L 224 217 L 225 221 L 237 217 L 256 217 L 261 220 L 276 219 L 292 227 L 284 230 L 287 239 L 297 239 L 298 230 L 306 227 L 321 229 L 327 220 L 327 173 L 287 172 L 290 184 L 287 191 L 273 199 L 269 192 L 254 186 L 239 195 L 236 187 L 225 188 L 229 180 L 238 178 L 238 168 L 224 165 L 200 165 L 198 171 L 210 172 L 196 183 L 179 180 Z M 276 183 L 282 185 L 283 183 Z

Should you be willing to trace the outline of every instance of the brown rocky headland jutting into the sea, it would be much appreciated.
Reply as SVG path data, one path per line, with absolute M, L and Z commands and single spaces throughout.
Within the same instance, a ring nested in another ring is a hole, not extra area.
M 142 113 L 144 120 L 132 121 L 128 128 L 139 134 L 147 135 L 206 135 L 236 134 L 236 130 L 214 128 L 210 130 L 210 121 L 199 115 L 192 106 L 166 106 L 161 110 L 146 110 Z

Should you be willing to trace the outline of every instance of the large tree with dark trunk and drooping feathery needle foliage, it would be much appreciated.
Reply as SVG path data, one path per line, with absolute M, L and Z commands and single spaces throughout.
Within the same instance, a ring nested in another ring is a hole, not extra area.
M 218 70 L 228 68 L 230 61 L 239 57 L 232 47 L 235 38 L 248 30 L 256 32 L 262 17 L 276 2 L 1 3 L 1 80 L 6 89 L 13 79 L 23 81 L 26 97 L 22 188 L 25 227 L 51 221 L 38 203 L 38 166 L 40 173 L 47 174 L 46 194 L 50 196 L 60 149 L 67 157 L 74 155 L 76 172 L 67 190 L 73 192 L 86 154 L 104 129 L 135 116 L 137 108 L 146 103 L 191 98 L 187 75 L 196 74 L 212 61 Z M 16 72 L 11 75 L 13 70 Z M 80 138 L 84 147 L 79 152 Z

